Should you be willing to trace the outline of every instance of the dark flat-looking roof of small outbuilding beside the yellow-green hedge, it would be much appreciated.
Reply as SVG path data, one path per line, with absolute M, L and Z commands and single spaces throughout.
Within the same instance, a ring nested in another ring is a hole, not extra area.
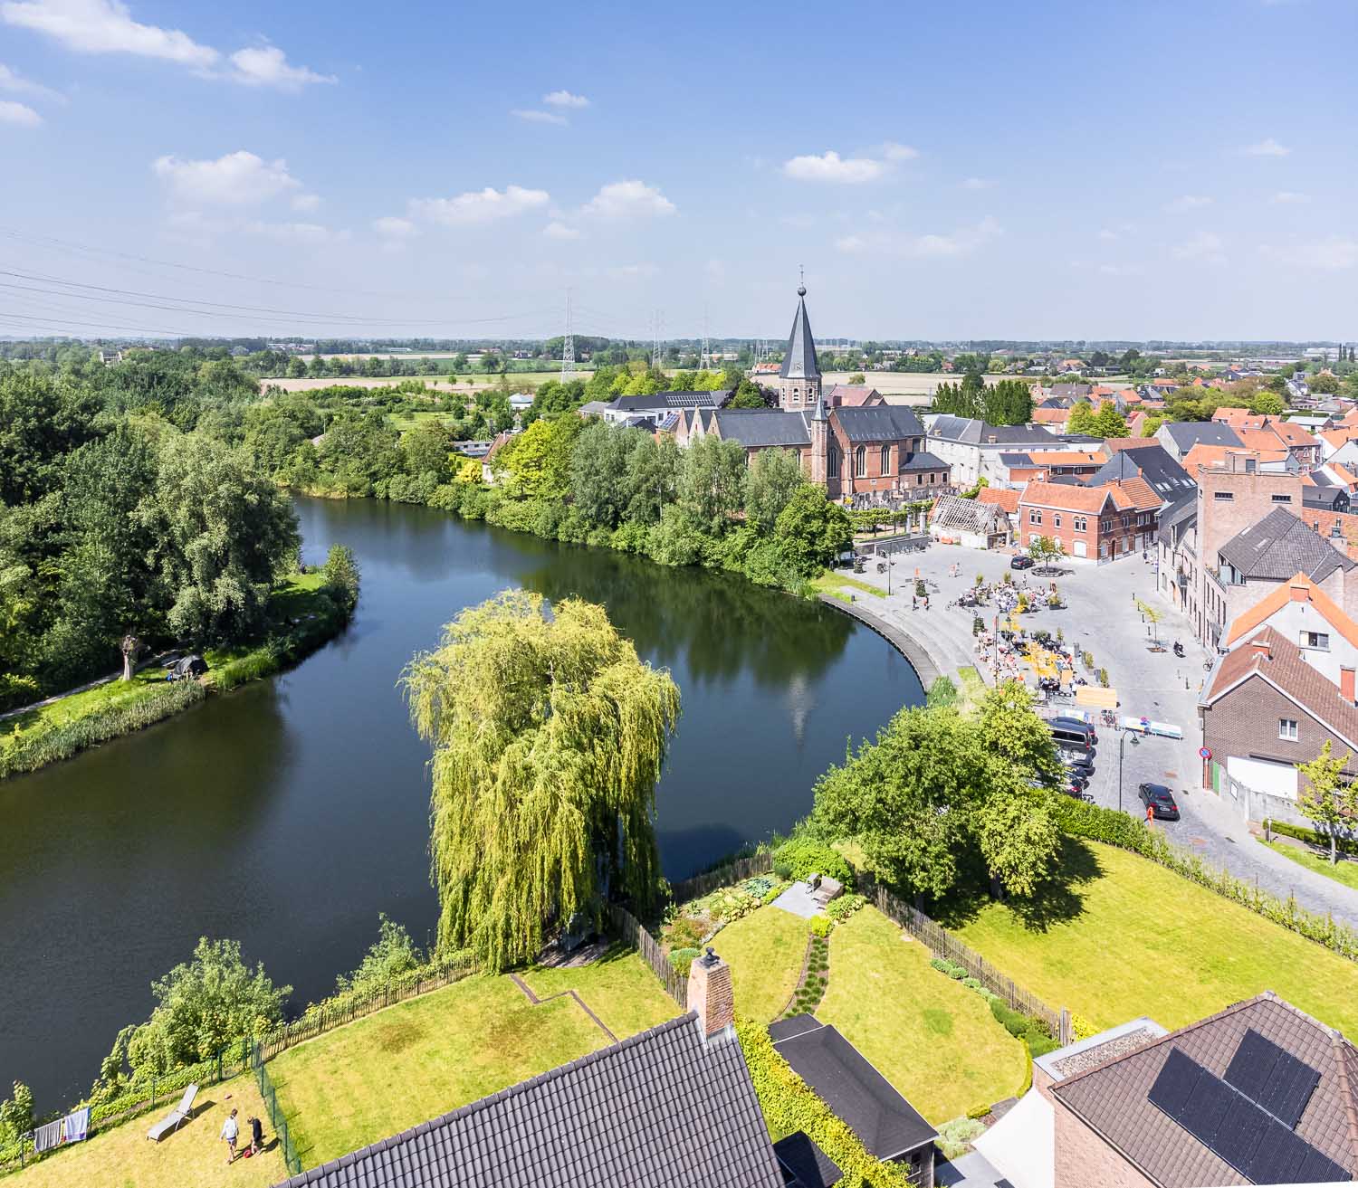
M 777 1026 L 781 1025 L 769 1029 L 774 1047 L 831 1112 L 858 1135 L 869 1154 L 895 1159 L 938 1138 L 919 1112 L 835 1028 L 807 1026 L 803 1021 L 799 1033 L 785 1035 Z

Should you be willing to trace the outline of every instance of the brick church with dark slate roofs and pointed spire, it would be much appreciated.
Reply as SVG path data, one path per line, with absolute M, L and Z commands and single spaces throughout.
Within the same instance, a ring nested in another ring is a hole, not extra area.
M 747 460 L 763 449 L 790 449 L 835 500 L 881 493 L 914 501 L 948 489 L 948 463 L 923 448 L 925 428 L 911 409 L 888 405 L 869 388 L 837 386 L 827 394 L 822 384 L 801 284 L 778 372 L 778 407 L 686 409 L 675 440 L 687 445 L 710 434 L 739 441 Z

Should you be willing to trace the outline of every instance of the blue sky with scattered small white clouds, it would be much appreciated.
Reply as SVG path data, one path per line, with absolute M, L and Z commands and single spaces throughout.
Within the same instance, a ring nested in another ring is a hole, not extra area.
M 0 0 L 0 334 L 535 337 L 570 288 L 779 338 L 804 265 L 822 337 L 1358 338 L 1355 42 L 1354 0 Z

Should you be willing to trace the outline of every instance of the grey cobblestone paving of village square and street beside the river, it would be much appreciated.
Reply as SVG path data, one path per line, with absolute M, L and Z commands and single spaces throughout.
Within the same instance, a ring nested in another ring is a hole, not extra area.
M 957 576 L 949 576 L 951 566 L 959 566 Z M 957 669 L 974 665 L 989 682 L 990 669 L 975 653 L 971 635 L 974 612 L 964 607 L 949 607 L 957 596 L 975 584 L 976 574 L 986 582 L 995 582 L 1009 572 L 1008 553 L 983 553 L 956 544 L 930 544 L 925 553 L 896 558 L 891 568 L 891 595 L 875 597 L 860 593 L 858 604 L 872 614 L 884 616 L 923 646 L 940 672 L 956 679 Z M 911 608 L 914 580 L 929 584 L 929 610 L 923 604 Z M 1031 570 L 1014 572 L 1013 577 L 1029 588 L 1046 589 L 1055 581 L 1066 608 L 1042 610 L 1021 616 L 1031 633 L 1046 629 L 1052 634 L 1059 629 L 1067 644 L 1093 653 L 1095 667 L 1107 668 L 1109 684 L 1118 690 L 1120 716 L 1148 717 L 1172 722 L 1184 732 L 1183 741 L 1148 737 L 1135 744 L 1128 737 L 1122 747 L 1122 808 L 1143 812 L 1137 798 L 1138 785 L 1156 782 L 1168 785 L 1179 801 L 1181 820 L 1157 821 L 1171 840 L 1196 850 L 1214 865 L 1225 866 L 1240 878 L 1258 881 L 1274 895 L 1286 897 L 1296 893 L 1298 903 L 1310 911 L 1328 912 L 1358 927 L 1358 891 L 1335 883 L 1323 874 L 1298 866 L 1274 853 L 1251 836 L 1243 809 L 1226 796 L 1222 798 L 1202 787 L 1202 759 L 1198 748 L 1202 732 L 1198 726 L 1198 695 L 1206 676 L 1209 653 L 1192 638 L 1187 619 L 1156 592 L 1154 568 L 1141 559 L 1118 561 L 1111 565 L 1067 563 L 1055 578 L 1032 577 Z M 887 574 L 879 574 L 869 561 L 868 572 L 857 574 L 880 589 L 888 584 Z M 1150 627 L 1135 608 L 1137 599 L 1164 614 L 1157 634 L 1165 652 L 1150 652 Z M 978 611 L 987 622 L 994 620 L 994 608 Z M 1184 645 L 1186 657 L 1179 660 L 1169 644 Z M 1082 672 L 1081 667 L 1081 672 Z M 1099 728 L 1099 747 L 1095 756 L 1095 775 L 1089 792 L 1107 806 L 1119 806 L 1118 751 L 1120 733 Z

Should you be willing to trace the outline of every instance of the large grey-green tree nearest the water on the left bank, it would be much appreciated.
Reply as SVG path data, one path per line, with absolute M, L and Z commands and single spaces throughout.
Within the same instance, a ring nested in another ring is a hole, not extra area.
M 288 498 L 240 451 L 197 434 L 160 443 L 152 491 L 133 515 L 149 532 L 153 597 L 194 644 L 255 634 L 269 589 L 297 555 Z

